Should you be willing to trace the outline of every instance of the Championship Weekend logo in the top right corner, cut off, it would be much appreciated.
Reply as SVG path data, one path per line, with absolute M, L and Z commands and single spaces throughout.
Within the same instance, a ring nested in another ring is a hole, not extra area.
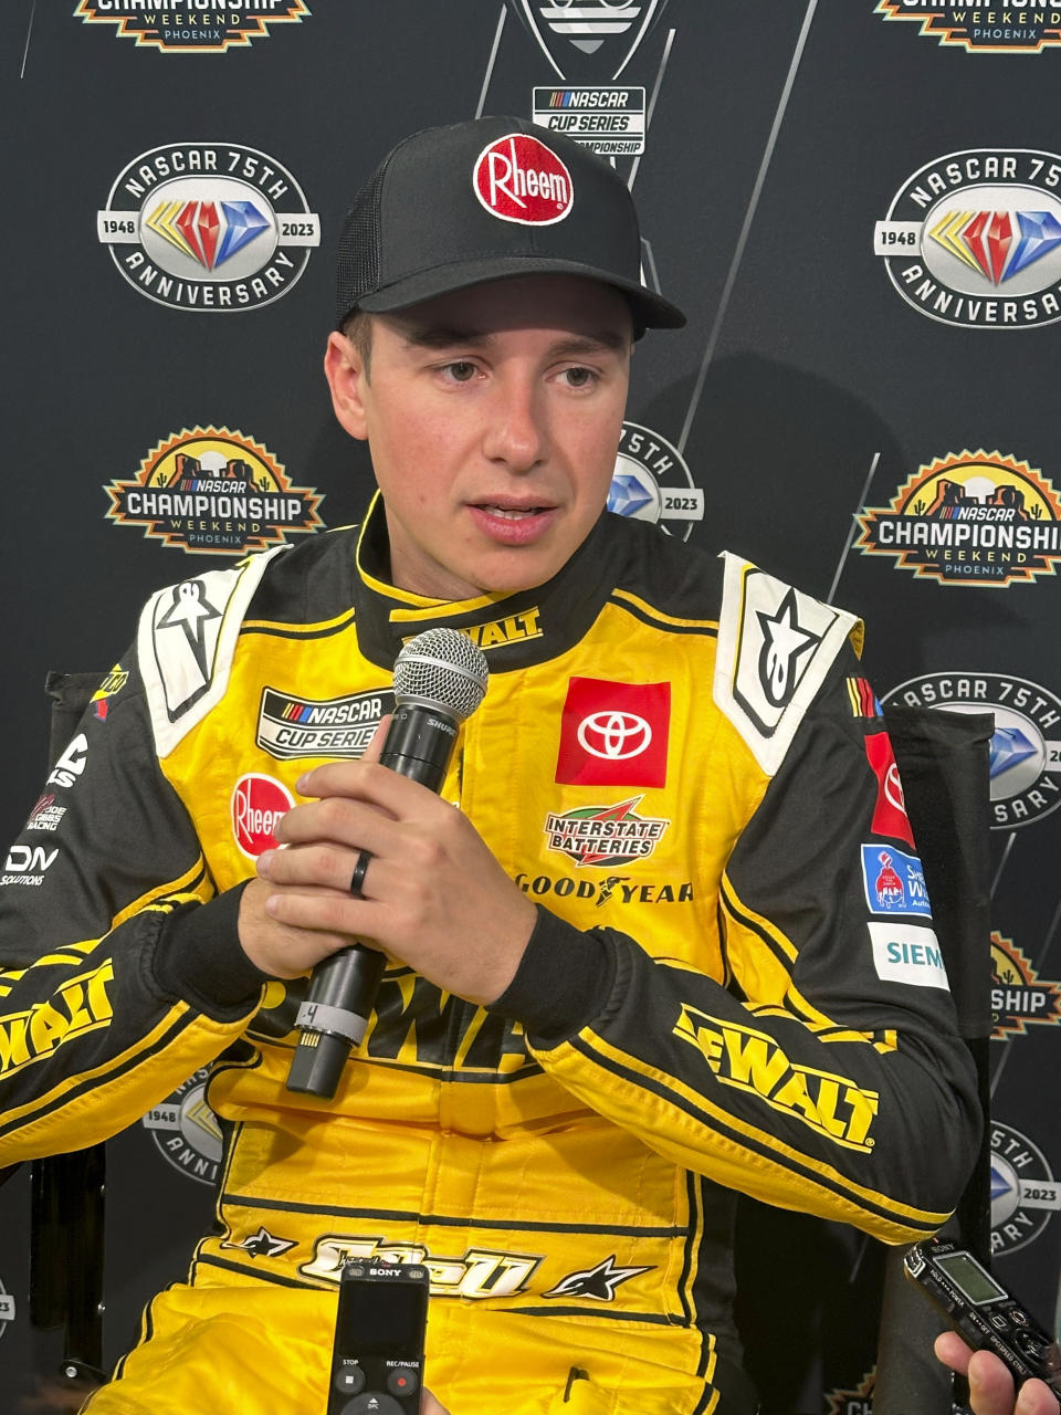
M 886 20 L 914 20 L 921 34 L 968 54 L 1038 54 L 1061 44 L 1058 0 L 880 0 Z

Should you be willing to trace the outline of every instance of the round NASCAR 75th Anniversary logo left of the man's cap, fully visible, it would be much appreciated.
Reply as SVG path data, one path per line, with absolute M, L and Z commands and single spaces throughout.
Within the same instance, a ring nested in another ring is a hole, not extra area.
M 170 143 L 134 157 L 96 235 L 140 294 L 211 314 L 279 300 L 321 241 L 291 173 L 238 143 Z

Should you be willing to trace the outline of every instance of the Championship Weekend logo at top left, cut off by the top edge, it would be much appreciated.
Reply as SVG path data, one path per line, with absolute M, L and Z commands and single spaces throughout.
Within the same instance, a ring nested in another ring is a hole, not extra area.
M 163 54 L 222 54 L 308 13 L 304 0 L 78 0 L 74 11 Z

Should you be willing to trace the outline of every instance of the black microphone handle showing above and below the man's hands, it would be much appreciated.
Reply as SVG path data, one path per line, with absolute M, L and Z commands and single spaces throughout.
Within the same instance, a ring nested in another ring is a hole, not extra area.
M 457 723 L 423 703 L 399 703 L 379 760 L 430 791 L 441 791 L 457 744 Z M 296 1029 L 301 1033 L 287 1071 L 287 1090 L 331 1099 L 349 1049 L 359 1043 L 376 1000 L 385 957 L 351 944 L 313 969 Z

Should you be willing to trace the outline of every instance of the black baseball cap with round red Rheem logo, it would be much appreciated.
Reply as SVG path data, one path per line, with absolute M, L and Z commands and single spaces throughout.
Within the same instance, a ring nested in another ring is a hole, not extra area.
M 403 139 L 354 198 L 337 325 L 518 275 L 603 280 L 638 333 L 685 324 L 641 283 L 637 211 L 615 168 L 528 119 L 478 117 Z

